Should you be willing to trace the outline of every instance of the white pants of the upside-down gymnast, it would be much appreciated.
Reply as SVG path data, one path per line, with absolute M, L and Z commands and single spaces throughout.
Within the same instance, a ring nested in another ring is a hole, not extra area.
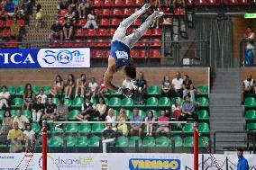
M 113 40 L 118 40 L 127 45 L 130 49 L 133 48 L 134 44 L 142 37 L 142 35 L 147 31 L 147 29 L 151 26 L 154 19 L 158 16 L 158 11 L 152 13 L 145 22 L 142 23 L 140 28 L 136 29 L 132 34 L 126 36 L 125 33 L 128 27 L 139 17 L 142 13 L 145 13 L 146 9 L 141 8 L 140 10 L 133 13 L 131 16 L 123 20 L 114 31 Z

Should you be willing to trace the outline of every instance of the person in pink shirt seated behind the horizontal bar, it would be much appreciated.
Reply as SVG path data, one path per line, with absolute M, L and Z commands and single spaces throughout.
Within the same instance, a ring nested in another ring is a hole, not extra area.
M 157 137 L 160 136 L 160 133 L 162 131 L 166 132 L 166 135 L 169 137 L 169 123 L 167 122 L 161 122 L 161 121 L 169 121 L 169 117 L 166 116 L 166 112 L 165 111 L 161 111 L 160 112 L 160 117 L 158 118 L 159 121 L 159 126 L 158 129 L 156 130 L 157 132 Z

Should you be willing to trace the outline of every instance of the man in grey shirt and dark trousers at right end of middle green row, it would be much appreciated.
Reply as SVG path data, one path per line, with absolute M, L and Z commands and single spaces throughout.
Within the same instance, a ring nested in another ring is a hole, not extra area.
M 187 121 L 187 118 L 193 118 L 194 121 L 198 121 L 197 108 L 198 104 L 194 101 L 190 101 L 189 95 L 185 96 L 182 105 L 182 114 L 178 121 Z

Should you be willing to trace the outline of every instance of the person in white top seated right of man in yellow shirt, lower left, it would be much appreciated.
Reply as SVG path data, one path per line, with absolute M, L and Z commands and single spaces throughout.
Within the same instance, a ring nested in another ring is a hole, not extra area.
M 25 125 L 25 130 L 23 131 L 24 140 L 25 140 L 25 152 L 32 153 L 35 141 L 35 132 L 32 130 L 32 126 L 30 123 Z

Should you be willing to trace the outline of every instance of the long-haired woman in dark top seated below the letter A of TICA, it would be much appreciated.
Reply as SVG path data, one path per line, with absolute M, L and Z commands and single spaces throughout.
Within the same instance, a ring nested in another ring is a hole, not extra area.
M 32 103 L 35 99 L 35 94 L 32 91 L 32 85 L 26 84 L 23 94 L 23 110 L 31 110 Z

